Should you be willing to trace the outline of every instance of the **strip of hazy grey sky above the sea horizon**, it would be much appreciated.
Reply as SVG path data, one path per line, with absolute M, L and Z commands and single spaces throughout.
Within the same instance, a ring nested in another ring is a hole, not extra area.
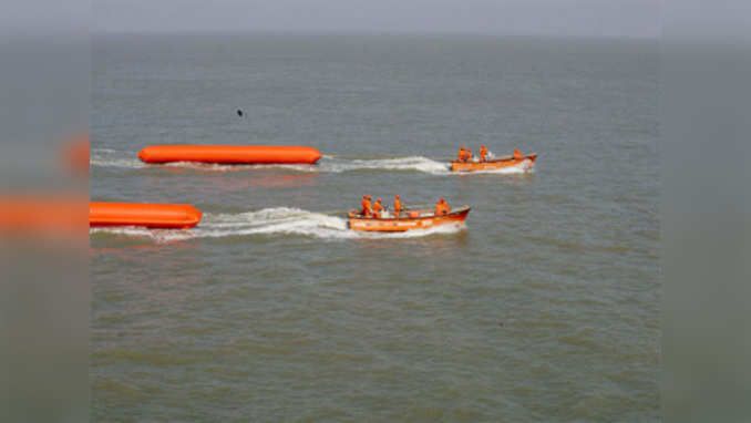
M 92 0 L 95 31 L 466 32 L 656 38 L 660 0 Z

